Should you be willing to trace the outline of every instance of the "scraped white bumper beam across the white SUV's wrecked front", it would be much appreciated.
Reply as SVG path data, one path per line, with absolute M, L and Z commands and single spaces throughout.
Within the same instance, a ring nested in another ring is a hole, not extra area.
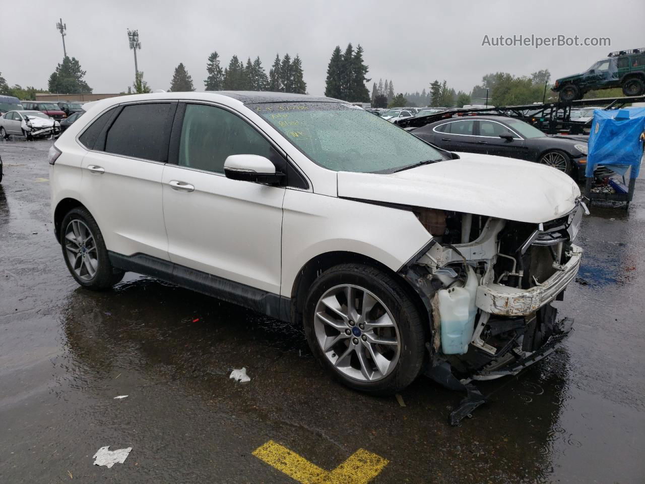
M 502 284 L 486 284 L 477 288 L 476 305 L 484 312 L 498 316 L 526 316 L 550 303 L 573 281 L 582 259 L 582 248 L 571 245 L 569 261 L 535 287 L 519 289 Z

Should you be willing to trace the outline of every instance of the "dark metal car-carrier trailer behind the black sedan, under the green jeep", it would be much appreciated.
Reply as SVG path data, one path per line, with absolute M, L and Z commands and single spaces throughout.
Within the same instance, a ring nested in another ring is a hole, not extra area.
M 579 99 L 577 101 L 556 101 L 553 103 L 530 104 L 521 106 L 491 106 L 490 108 L 452 109 L 428 116 L 410 117 L 395 121 L 401 128 L 420 128 L 421 126 L 455 116 L 477 116 L 478 114 L 499 114 L 526 121 L 546 134 L 587 135 L 591 120 L 571 121 L 571 109 L 585 106 L 604 106 L 603 109 L 619 109 L 629 103 L 643 103 L 645 96 L 601 97 Z

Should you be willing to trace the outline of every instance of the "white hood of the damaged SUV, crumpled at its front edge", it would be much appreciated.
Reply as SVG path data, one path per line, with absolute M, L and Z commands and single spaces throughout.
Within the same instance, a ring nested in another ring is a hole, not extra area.
M 338 196 L 528 223 L 564 216 L 580 196 L 573 180 L 550 166 L 501 156 L 459 156 L 387 175 L 338 172 Z

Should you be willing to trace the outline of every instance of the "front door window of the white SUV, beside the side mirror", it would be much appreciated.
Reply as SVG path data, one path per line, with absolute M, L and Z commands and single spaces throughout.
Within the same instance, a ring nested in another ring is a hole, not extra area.
M 224 173 L 230 155 L 267 157 L 284 163 L 273 146 L 241 117 L 215 106 L 187 105 L 179 141 L 179 165 Z

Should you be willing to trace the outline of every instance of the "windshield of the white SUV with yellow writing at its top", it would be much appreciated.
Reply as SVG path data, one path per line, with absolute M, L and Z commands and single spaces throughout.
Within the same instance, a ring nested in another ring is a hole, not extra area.
M 341 103 L 248 105 L 317 165 L 335 172 L 393 172 L 444 157 L 362 109 Z

